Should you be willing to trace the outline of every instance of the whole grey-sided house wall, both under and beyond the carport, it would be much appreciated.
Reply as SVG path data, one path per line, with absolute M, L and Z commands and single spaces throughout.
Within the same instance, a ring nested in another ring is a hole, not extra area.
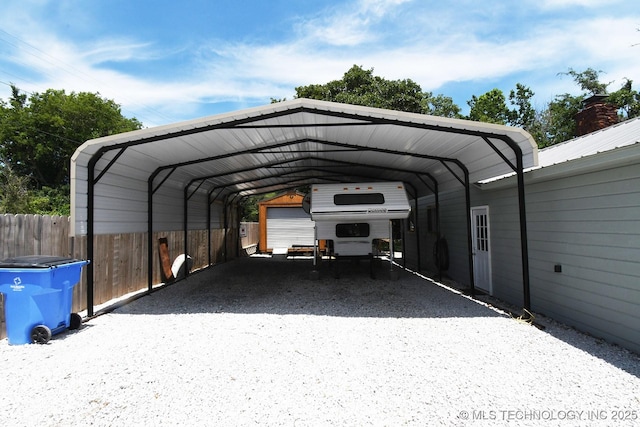
M 638 163 L 609 163 L 581 173 L 566 164 L 554 167 L 566 173 L 549 179 L 525 174 L 531 308 L 640 352 Z M 433 196 L 419 200 L 419 231 L 426 229 L 424 212 L 434 204 Z M 471 206 L 482 205 L 489 206 L 493 296 L 522 306 L 515 180 L 493 189 L 473 187 Z M 462 285 L 469 283 L 466 213 L 462 188 L 440 195 L 441 228 L 451 257 L 446 274 Z M 412 235 L 407 233 L 408 248 L 415 247 Z M 420 231 L 422 268 L 427 270 L 435 268 L 430 238 Z M 413 251 L 408 261 L 415 265 Z M 562 272 L 554 272 L 556 265 Z

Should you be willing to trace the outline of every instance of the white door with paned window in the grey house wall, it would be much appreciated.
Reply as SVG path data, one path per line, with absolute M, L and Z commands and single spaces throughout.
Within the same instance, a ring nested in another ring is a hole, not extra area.
M 473 278 L 475 286 L 488 292 L 491 288 L 491 252 L 489 240 L 489 207 L 471 208 L 471 232 L 473 233 Z

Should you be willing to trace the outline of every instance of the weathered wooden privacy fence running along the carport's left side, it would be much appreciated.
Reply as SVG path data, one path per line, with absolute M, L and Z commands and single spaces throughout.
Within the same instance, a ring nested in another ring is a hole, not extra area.
M 242 223 L 247 237 L 239 238 L 238 230 L 227 231 L 226 258 L 242 254 L 241 247 L 257 243 L 249 239 L 258 235 L 257 223 Z M 55 255 L 76 259 L 87 258 L 87 237 L 68 237 L 70 221 L 66 216 L 0 215 L 0 260 L 24 255 Z M 225 260 L 225 231 L 211 230 L 211 243 L 207 230 L 189 230 L 189 256 L 193 270 Z M 184 232 L 154 232 L 152 283 L 161 283 L 158 239 L 167 238 L 169 255 L 173 261 L 184 253 Z M 257 239 L 257 237 L 255 237 Z M 211 248 L 211 253 L 208 250 Z M 147 233 L 105 234 L 94 237 L 94 305 L 108 303 L 133 292 L 148 288 Z M 81 281 L 74 287 L 73 312 L 87 309 L 86 267 Z M 0 338 L 5 337 L 4 304 L 0 296 Z

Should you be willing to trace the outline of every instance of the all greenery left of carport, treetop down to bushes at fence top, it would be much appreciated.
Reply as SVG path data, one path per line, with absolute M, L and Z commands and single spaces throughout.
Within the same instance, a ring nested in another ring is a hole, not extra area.
M 49 89 L 27 97 L 11 86 L 8 102 L 0 100 L 0 183 L 5 196 L 22 195 L 0 199 L 0 211 L 64 213 L 65 203 L 68 211 L 69 163 L 76 148 L 89 139 L 141 127 L 98 93 Z M 25 187 L 22 193 L 7 191 L 16 185 Z

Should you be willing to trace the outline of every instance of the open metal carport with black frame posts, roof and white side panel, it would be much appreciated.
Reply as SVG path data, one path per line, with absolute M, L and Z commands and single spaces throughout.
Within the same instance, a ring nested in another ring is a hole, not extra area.
M 71 159 L 72 234 L 210 227 L 211 205 L 224 212 L 251 194 L 327 181 L 399 180 L 410 197 L 515 172 L 524 307 L 529 272 L 524 169 L 537 164 L 532 137 L 519 128 L 309 99 L 270 104 L 85 142 Z M 473 289 L 471 224 L 467 228 Z M 226 219 L 225 219 L 226 221 Z M 419 239 L 418 239 L 419 244 Z M 419 252 L 419 246 L 418 246 Z M 93 269 L 87 310 L 93 314 Z

